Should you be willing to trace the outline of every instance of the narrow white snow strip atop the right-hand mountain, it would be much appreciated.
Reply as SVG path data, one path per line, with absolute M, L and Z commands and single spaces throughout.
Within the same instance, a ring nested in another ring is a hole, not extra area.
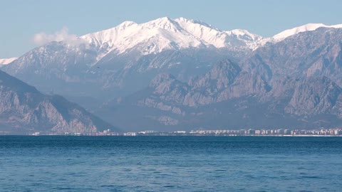
M 271 41 L 279 42 L 279 41 L 282 41 L 289 36 L 293 36 L 293 35 L 296 35 L 298 33 L 305 32 L 305 31 L 315 31 L 317 28 L 320 28 L 320 27 L 342 28 L 342 24 L 334 25 L 334 26 L 326 26 L 323 23 L 309 23 L 309 24 L 306 24 L 304 26 L 299 26 L 299 27 L 295 27 L 295 28 L 291 28 L 291 29 L 282 31 L 281 33 L 278 33 L 275 36 L 273 36 L 271 38 Z

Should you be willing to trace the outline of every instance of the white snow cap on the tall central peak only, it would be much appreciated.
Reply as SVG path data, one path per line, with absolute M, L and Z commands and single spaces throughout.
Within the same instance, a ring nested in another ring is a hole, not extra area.
M 114 28 L 81 38 L 94 46 L 105 48 L 107 53 L 116 50 L 120 54 L 134 48 L 143 55 L 185 48 L 254 49 L 253 43 L 261 39 L 244 30 L 220 31 L 202 21 L 167 17 L 141 24 L 125 21 Z

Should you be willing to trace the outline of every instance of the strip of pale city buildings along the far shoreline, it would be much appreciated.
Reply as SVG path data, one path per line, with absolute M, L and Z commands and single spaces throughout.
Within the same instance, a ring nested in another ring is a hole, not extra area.
M 34 132 L 30 135 L 57 135 L 53 133 L 43 134 L 41 132 Z M 71 133 L 65 132 L 65 136 L 217 136 L 217 137 L 342 137 L 342 129 L 199 129 L 187 131 L 172 131 L 172 132 L 160 132 L 154 130 L 147 130 L 142 132 L 110 132 L 110 129 L 106 129 L 103 132 L 89 132 L 89 133 Z

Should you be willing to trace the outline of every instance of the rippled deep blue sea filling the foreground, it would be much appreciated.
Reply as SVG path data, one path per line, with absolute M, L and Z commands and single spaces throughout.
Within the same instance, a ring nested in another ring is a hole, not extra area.
M 341 191 L 342 137 L 0 137 L 0 191 Z

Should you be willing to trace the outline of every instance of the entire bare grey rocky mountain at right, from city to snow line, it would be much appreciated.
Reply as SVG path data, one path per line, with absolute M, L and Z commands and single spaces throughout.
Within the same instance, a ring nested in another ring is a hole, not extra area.
M 143 94 L 138 92 L 126 99 L 129 102 L 120 100 L 111 105 L 152 108 L 155 111 L 140 117 L 169 129 L 170 122 L 173 127 L 191 127 L 193 121 L 201 122 L 204 117 L 207 121 L 195 127 L 205 127 L 207 122 L 211 122 L 207 127 L 235 124 L 243 128 L 252 122 L 254 126 L 274 128 L 335 127 L 342 118 L 341 33 L 340 28 L 297 33 L 266 43 L 240 62 L 221 61 L 188 82 L 159 75 Z M 217 112 L 219 105 L 229 110 Z M 230 114 L 239 115 L 230 119 Z M 186 123 L 189 120 L 191 124 Z

